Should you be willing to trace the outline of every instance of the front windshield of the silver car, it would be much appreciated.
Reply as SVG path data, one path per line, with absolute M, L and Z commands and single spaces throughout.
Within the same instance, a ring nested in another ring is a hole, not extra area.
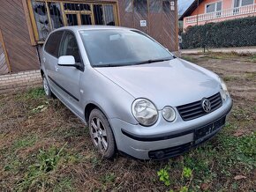
M 83 30 L 80 35 L 94 67 L 115 67 L 173 59 L 168 50 L 138 31 Z

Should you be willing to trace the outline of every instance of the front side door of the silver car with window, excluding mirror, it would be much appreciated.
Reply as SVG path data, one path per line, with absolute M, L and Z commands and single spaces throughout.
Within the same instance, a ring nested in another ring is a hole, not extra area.
M 72 55 L 76 63 L 82 65 L 81 56 L 79 54 L 79 46 L 74 33 L 65 31 L 59 46 L 59 56 Z M 72 108 L 72 111 L 82 116 L 83 109 L 80 107 L 80 87 L 79 78 L 83 73 L 76 67 L 58 66 L 57 85 L 62 89 L 62 95 L 66 104 Z

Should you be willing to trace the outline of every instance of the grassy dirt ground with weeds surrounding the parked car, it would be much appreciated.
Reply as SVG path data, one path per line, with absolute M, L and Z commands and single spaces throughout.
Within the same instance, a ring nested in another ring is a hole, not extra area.
M 102 159 L 86 126 L 40 87 L 0 95 L 0 191 L 255 191 L 255 55 L 182 55 L 227 83 L 234 107 L 211 141 L 164 161 Z

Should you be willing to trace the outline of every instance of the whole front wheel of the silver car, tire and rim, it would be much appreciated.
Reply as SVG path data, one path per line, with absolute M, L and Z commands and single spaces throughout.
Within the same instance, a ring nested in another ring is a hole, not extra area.
M 98 108 L 89 115 L 89 131 L 94 147 L 103 158 L 113 159 L 116 154 L 116 142 L 108 119 Z

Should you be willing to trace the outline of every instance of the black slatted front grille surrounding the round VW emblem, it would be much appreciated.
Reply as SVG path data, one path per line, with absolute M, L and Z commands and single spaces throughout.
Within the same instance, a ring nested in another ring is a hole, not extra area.
M 181 115 L 184 121 L 189 121 L 192 119 L 199 118 L 200 116 L 203 116 L 205 114 L 212 113 L 219 107 L 222 107 L 222 96 L 220 92 L 206 99 L 211 102 L 211 110 L 208 113 L 204 111 L 201 105 L 202 103 L 201 100 L 190 103 L 190 104 L 186 104 L 184 106 L 179 106 L 177 107 L 177 111 Z

